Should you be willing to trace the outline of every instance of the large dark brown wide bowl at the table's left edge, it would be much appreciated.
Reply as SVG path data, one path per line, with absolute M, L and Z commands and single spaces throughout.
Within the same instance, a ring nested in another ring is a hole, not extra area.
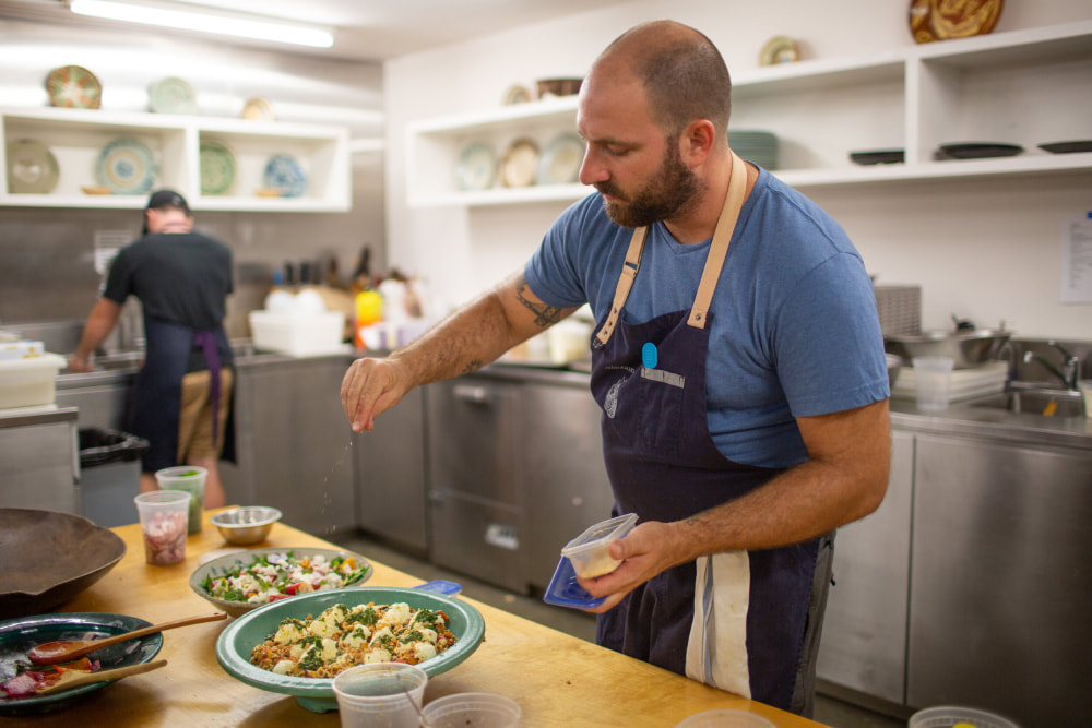
M 124 554 L 120 536 L 83 516 L 0 509 L 0 619 L 52 610 L 105 576 Z

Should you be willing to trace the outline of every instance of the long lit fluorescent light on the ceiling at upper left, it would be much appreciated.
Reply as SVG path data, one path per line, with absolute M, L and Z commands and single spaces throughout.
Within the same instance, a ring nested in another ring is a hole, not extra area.
M 330 48 L 334 45 L 333 34 L 323 28 L 273 20 L 252 20 L 212 11 L 180 10 L 120 0 L 70 0 L 69 9 L 80 15 L 182 31 L 234 35 L 312 48 Z

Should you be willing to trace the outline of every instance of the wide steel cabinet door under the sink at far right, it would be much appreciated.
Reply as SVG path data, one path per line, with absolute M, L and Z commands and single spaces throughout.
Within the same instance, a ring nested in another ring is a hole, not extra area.
M 1092 715 L 1092 452 L 917 435 L 906 697 Z

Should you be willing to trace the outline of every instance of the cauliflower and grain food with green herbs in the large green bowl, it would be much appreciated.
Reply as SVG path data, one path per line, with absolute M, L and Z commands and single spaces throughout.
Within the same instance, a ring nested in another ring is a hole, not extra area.
M 355 665 L 417 665 L 455 644 L 440 610 L 405 602 L 334 605 L 317 618 L 286 619 L 275 634 L 256 645 L 250 663 L 263 670 L 299 678 L 333 678 Z

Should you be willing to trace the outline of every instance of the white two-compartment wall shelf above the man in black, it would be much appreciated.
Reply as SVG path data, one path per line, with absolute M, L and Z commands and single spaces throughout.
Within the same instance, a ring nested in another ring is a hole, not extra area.
M 146 194 L 85 194 L 97 187 L 96 165 L 110 141 L 143 142 L 157 165 L 153 189 L 169 187 L 193 210 L 256 212 L 344 212 L 352 206 L 348 130 L 342 127 L 222 119 L 162 114 L 121 114 L 90 109 L 0 110 L 0 163 L 8 169 L 8 144 L 34 139 L 49 147 L 60 175 L 48 194 L 14 193 L 8 175 L 0 180 L 0 205 L 25 207 L 140 208 Z M 236 164 L 235 183 L 225 194 L 201 193 L 200 145 L 227 146 Z M 265 164 L 274 154 L 292 155 L 307 176 L 295 198 L 259 196 L 266 187 Z

